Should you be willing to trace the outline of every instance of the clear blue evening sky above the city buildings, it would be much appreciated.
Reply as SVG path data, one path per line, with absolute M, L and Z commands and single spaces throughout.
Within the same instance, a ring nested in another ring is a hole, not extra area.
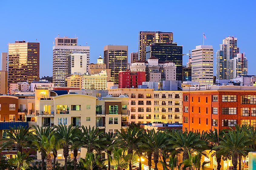
M 255 75 L 255 9 L 255 0 L 1 1 L 0 53 L 8 52 L 8 43 L 38 39 L 42 77 L 52 76 L 52 46 L 58 34 L 78 37 L 78 45 L 87 42 L 90 63 L 95 63 L 109 44 L 128 45 L 129 56 L 137 52 L 139 31 L 173 32 L 183 54 L 202 45 L 204 33 L 204 45 L 213 46 L 214 56 L 222 39 L 237 37 L 240 52 L 248 59 L 248 74 Z M 183 65 L 186 62 L 184 55 Z

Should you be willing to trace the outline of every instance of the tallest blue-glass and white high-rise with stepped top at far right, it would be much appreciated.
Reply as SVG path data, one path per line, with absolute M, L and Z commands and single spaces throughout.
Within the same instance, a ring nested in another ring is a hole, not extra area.
M 228 71 L 228 62 L 232 58 L 237 57 L 239 48 L 237 47 L 237 38 L 229 36 L 223 39 L 220 49 L 216 52 L 216 78 L 231 79 Z

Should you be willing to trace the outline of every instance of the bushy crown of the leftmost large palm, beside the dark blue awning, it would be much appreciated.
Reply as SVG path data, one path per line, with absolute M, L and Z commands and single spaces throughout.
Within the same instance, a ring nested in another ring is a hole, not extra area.
M 27 126 L 19 125 L 16 127 L 14 125 L 14 127 L 10 128 L 10 131 L 7 131 L 6 139 L 2 139 L 6 141 L 2 145 L 2 149 L 16 144 L 17 151 L 22 153 L 22 149 L 28 148 L 32 143 L 32 132 L 29 129 Z

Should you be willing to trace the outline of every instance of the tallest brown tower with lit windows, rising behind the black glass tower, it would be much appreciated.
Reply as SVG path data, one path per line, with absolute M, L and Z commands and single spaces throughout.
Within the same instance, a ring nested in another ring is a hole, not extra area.
M 140 31 L 138 58 L 146 61 L 146 46 L 151 43 L 173 43 L 173 33 L 160 31 Z

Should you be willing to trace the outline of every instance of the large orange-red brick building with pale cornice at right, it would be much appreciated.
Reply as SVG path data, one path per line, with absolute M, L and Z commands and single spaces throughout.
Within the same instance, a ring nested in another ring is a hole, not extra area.
M 235 124 L 256 126 L 256 87 L 183 88 L 183 131 L 224 129 Z

